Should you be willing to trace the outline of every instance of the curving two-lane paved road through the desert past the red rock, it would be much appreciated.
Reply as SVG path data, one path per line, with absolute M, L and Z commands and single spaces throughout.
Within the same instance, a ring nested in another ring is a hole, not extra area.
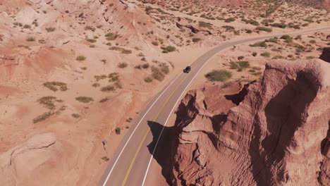
M 311 32 L 329 30 L 330 27 L 325 27 L 315 30 L 304 30 L 292 33 L 286 33 L 288 35 L 305 35 Z M 258 40 L 269 39 L 271 37 L 279 37 L 281 35 L 267 35 L 263 37 L 254 37 L 249 39 L 240 39 L 231 42 L 225 42 L 216 46 L 204 53 L 191 63 L 192 70 L 190 73 L 178 74 L 156 97 L 146 106 L 146 109 L 140 112 L 135 123 L 132 125 L 126 136 L 123 138 L 121 144 L 118 146 L 113 159 L 111 159 L 109 166 L 104 171 L 99 185 L 111 185 L 111 186 L 135 186 L 145 185 L 145 179 L 147 176 L 152 176 L 152 171 L 149 171 L 151 163 L 157 163 L 153 161 L 152 153 L 154 148 L 157 147 L 159 139 L 157 139 L 154 147 L 147 147 L 150 142 L 153 141 L 154 131 L 156 125 L 161 126 L 159 132 L 159 138 L 163 132 L 163 126 L 166 125 L 171 113 L 176 108 L 178 101 L 186 93 L 189 85 L 193 82 L 194 78 L 203 68 L 203 66 L 209 61 L 212 56 L 217 54 L 230 46 L 256 42 Z M 148 172 L 149 171 L 149 172 Z

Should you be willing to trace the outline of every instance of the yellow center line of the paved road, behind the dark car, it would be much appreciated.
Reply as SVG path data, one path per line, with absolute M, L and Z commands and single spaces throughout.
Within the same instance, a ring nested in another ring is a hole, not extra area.
M 153 121 L 154 121 L 154 120 L 157 120 L 159 114 L 160 114 L 161 111 L 164 109 L 164 107 L 166 106 L 167 102 L 169 102 L 169 100 L 171 99 L 171 97 L 173 96 L 173 94 L 176 92 L 176 90 L 178 89 L 178 87 L 180 87 L 180 85 L 183 83 L 183 81 L 184 81 L 185 79 L 187 79 L 187 77 L 188 77 L 188 75 L 185 76 L 185 78 L 183 78 L 183 80 L 181 80 L 181 82 L 176 86 L 176 89 L 174 89 L 173 92 L 171 92 L 171 94 L 169 95 L 169 97 L 166 99 L 166 101 L 164 102 L 164 104 L 161 106 L 161 109 L 159 109 L 157 115 L 154 116 L 154 118 L 152 119 Z M 151 126 L 152 126 L 152 125 L 151 125 Z M 150 128 L 151 128 L 151 126 L 150 126 Z M 129 166 L 129 168 L 128 168 L 128 171 L 127 171 L 127 173 L 126 173 L 126 176 L 125 176 L 123 182 L 121 183 L 121 186 L 124 186 L 124 185 L 126 184 L 126 181 L 127 181 L 127 179 L 128 179 L 128 175 L 130 175 L 130 171 L 132 170 L 132 167 L 133 167 L 133 165 L 134 165 L 134 163 L 135 163 L 135 159 L 136 159 L 136 157 L 138 156 L 138 154 L 139 154 L 139 152 L 140 152 L 140 149 L 141 149 L 141 147 L 142 147 L 143 142 L 145 142 L 145 138 L 147 137 L 148 133 L 150 132 L 150 128 L 148 128 L 147 132 L 145 132 L 145 135 L 143 136 L 143 138 L 142 138 L 142 140 L 141 140 L 141 142 L 140 142 L 140 144 L 139 144 L 138 149 L 135 151 L 134 157 L 133 157 L 132 161 L 130 162 L 130 166 Z

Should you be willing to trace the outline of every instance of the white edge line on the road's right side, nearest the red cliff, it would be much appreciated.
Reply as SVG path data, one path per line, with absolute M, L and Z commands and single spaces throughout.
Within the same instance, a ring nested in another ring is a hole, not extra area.
M 228 47 L 229 47 L 229 46 L 228 46 Z M 224 48 L 224 49 L 227 49 L 228 47 L 226 47 L 226 48 Z M 220 51 L 223 51 L 224 49 L 219 50 L 218 52 L 216 52 L 216 54 L 218 54 Z M 211 56 L 211 57 L 207 60 L 207 62 L 205 62 L 205 63 L 203 64 L 203 66 L 200 68 L 200 70 L 202 70 L 202 68 L 204 68 L 204 66 L 209 62 L 209 60 L 211 60 L 211 58 L 213 58 L 216 54 L 214 54 L 213 56 Z M 185 87 L 185 89 L 184 89 L 183 92 L 181 93 L 180 97 L 178 97 L 178 100 L 176 101 L 176 104 L 178 104 L 178 101 L 181 100 L 182 95 L 183 95 L 183 94 L 185 93 L 185 91 L 188 89 L 188 87 L 189 87 L 190 84 L 193 82 L 193 80 L 195 80 L 195 77 L 198 75 L 198 73 L 200 73 L 200 70 L 198 70 L 198 72 L 195 74 L 195 76 L 193 77 L 193 79 L 190 80 L 190 82 L 189 82 L 189 84 L 187 85 L 187 87 Z M 145 180 L 147 179 L 147 174 L 148 174 L 148 171 L 149 171 L 149 167 L 150 167 L 150 165 L 151 165 L 151 162 L 152 162 L 152 157 L 154 156 L 154 151 L 156 151 L 156 148 L 157 148 L 158 142 L 159 142 L 159 140 L 160 140 L 160 138 L 161 138 L 161 134 L 163 133 L 164 128 L 166 127 L 167 121 L 169 120 L 169 118 L 170 118 L 170 116 L 171 116 L 171 113 L 172 113 L 173 110 L 176 108 L 176 104 L 174 104 L 174 106 L 173 106 L 171 112 L 169 113 L 169 116 L 167 117 L 167 119 L 166 119 L 166 121 L 165 121 L 165 124 L 164 124 L 163 128 L 161 129 L 161 132 L 160 132 L 159 137 L 158 137 L 158 139 L 157 139 L 157 142 L 156 142 L 156 145 L 155 145 L 155 147 L 154 147 L 154 150 L 152 151 L 152 155 L 150 156 L 150 160 L 149 160 L 149 163 L 148 163 L 148 166 L 147 166 L 147 171 L 145 171 L 145 178 L 143 178 L 142 186 L 145 185 Z

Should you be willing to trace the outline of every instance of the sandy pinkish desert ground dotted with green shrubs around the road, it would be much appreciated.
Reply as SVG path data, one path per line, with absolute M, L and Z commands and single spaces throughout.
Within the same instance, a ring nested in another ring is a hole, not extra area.
M 229 40 L 278 34 L 221 51 L 190 89 L 244 85 L 267 62 L 319 58 L 329 31 L 286 33 L 329 27 L 329 6 L 1 1 L 0 185 L 97 185 L 139 112 L 185 66 Z M 231 75 L 210 80 L 212 70 Z

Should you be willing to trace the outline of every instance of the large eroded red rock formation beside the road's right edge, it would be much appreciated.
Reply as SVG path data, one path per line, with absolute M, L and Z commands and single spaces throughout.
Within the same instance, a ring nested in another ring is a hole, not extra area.
M 228 112 L 209 110 L 216 94 L 189 92 L 177 111 L 173 184 L 329 185 L 329 70 L 318 59 L 268 63 L 262 80 L 226 96 L 243 99 Z

